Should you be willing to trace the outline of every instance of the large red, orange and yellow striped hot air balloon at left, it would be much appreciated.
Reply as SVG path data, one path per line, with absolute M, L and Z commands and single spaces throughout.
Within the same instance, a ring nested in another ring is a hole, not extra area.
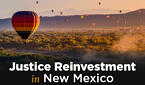
M 39 26 L 39 17 L 32 11 L 16 12 L 11 21 L 15 31 L 24 40 L 27 40 Z

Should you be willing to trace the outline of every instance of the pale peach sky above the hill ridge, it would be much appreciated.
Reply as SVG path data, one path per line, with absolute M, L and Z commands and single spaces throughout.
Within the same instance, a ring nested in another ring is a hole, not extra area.
M 145 0 L 0 0 L 0 19 L 11 17 L 17 11 L 35 11 L 39 16 L 52 16 L 51 9 L 58 15 L 64 11 L 66 15 L 75 14 L 107 14 L 117 10 L 132 11 L 145 8 Z M 102 5 L 99 6 L 98 3 Z

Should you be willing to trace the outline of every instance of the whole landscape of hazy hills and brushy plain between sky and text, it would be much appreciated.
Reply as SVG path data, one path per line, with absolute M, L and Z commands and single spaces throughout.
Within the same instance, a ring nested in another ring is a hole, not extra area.
M 141 12 L 140 12 L 141 11 Z M 0 20 L 0 67 L 26 63 L 129 63 L 144 65 L 145 10 L 77 16 L 40 16 L 39 29 L 25 43 L 12 29 L 10 18 Z

